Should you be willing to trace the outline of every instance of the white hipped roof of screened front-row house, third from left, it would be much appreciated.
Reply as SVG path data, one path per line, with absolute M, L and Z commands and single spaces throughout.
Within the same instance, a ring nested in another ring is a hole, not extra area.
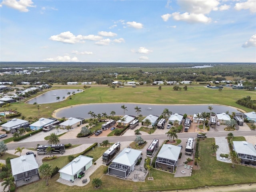
M 142 152 L 132 148 L 124 148 L 112 162 L 132 166 Z

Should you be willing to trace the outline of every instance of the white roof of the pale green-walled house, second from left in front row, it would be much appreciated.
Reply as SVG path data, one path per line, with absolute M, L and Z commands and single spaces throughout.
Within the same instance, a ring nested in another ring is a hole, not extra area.
M 74 175 L 92 160 L 93 158 L 91 157 L 80 155 L 74 160 L 72 160 L 72 162 L 64 166 L 62 169 L 60 169 L 59 172 L 62 172 L 68 175 Z

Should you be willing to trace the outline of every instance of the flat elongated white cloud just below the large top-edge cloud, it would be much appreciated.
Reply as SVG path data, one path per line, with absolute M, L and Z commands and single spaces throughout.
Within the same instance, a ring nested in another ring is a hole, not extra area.
M 175 12 L 172 14 L 173 19 L 177 20 L 177 21 L 185 21 L 185 22 L 189 22 L 189 23 L 196 23 L 196 22 L 200 22 L 200 23 L 209 23 L 212 21 L 211 18 L 206 17 L 204 14 L 194 14 L 194 13 L 183 13 L 180 14 L 178 12 Z

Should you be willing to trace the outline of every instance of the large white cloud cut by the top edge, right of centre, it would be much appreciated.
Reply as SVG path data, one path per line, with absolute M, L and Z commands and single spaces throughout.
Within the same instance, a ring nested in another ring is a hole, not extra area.
M 212 10 L 218 10 L 218 0 L 179 0 L 178 4 L 184 12 L 194 14 L 208 14 Z

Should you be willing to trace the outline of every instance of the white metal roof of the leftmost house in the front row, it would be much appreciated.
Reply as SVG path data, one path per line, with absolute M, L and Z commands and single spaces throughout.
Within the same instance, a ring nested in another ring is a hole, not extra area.
M 38 164 L 33 154 L 20 156 L 10 160 L 12 175 L 38 169 Z

